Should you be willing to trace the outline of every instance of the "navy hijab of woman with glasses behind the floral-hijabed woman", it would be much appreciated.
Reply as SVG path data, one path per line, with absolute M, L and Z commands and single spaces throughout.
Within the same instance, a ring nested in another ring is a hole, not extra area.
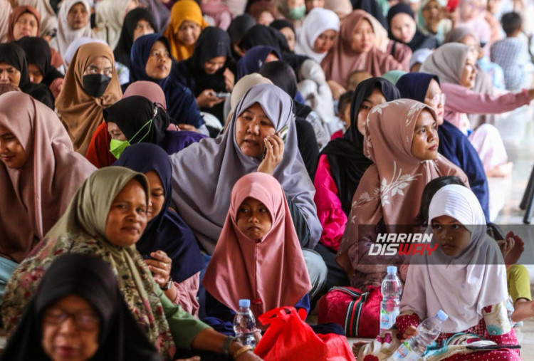
M 397 81 L 402 98 L 409 98 L 424 103 L 426 90 L 431 80 L 439 84 L 438 75 L 427 73 L 407 73 Z M 478 153 L 468 137 L 456 126 L 446 120 L 438 127 L 438 152 L 463 170 L 469 179 L 471 191 L 476 195 L 482 206 L 486 221 L 489 221 L 489 190 L 488 179 Z

